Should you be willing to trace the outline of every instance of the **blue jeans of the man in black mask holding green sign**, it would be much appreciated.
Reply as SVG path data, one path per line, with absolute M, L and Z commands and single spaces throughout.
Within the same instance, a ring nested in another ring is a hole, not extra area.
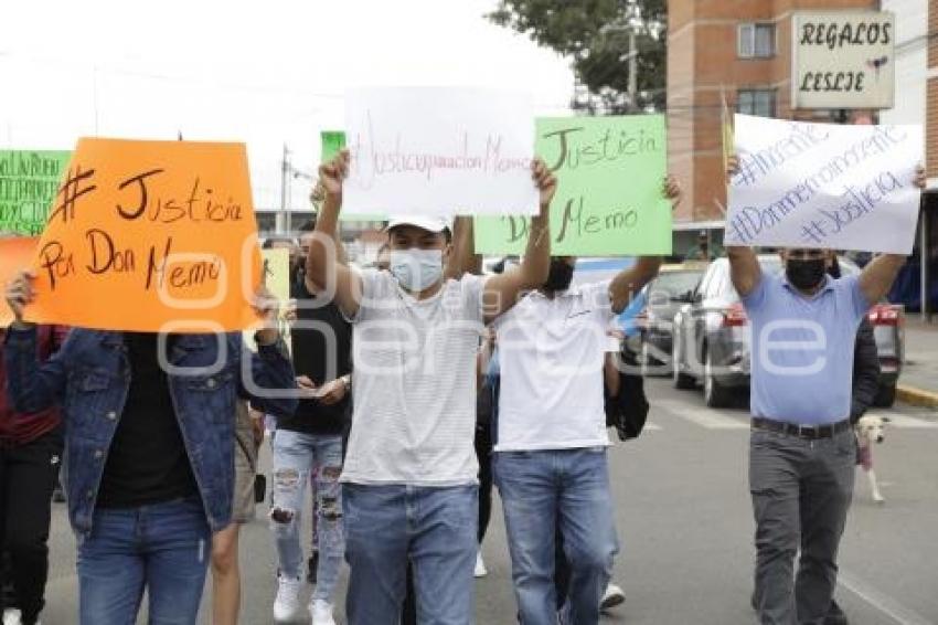
M 605 447 L 497 452 L 494 473 L 521 622 L 557 623 L 554 562 L 559 529 L 571 568 L 569 622 L 598 623 L 618 552 Z

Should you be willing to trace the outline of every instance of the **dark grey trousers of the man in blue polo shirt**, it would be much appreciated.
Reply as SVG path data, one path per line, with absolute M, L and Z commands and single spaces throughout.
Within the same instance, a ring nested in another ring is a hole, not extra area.
M 754 602 L 763 625 L 823 624 L 836 585 L 836 553 L 853 498 L 855 462 L 852 430 L 817 441 L 753 431 Z

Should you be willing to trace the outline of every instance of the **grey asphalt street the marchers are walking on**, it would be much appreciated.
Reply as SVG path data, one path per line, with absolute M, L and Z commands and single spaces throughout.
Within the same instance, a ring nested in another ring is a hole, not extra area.
M 707 409 L 700 391 L 676 391 L 663 379 L 649 380 L 648 394 L 647 431 L 638 441 L 617 443 L 609 455 L 621 542 L 615 581 L 627 600 L 603 623 L 753 624 L 747 413 Z M 886 502 L 872 501 L 857 473 L 836 597 L 852 625 L 938 624 L 938 412 L 903 405 L 874 412 L 893 420 L 875 449 Z M 273 622 L 276 555 L 264 513 L 258 506 L 257 520 L 242 534 L 242 623 L 248 625 Z M 77 622 L 74 544 L 64 506 L 55 505 L 44 625 Z M 511 625 L 515 604 L 500 508 L 483 554 L 489 575 L 476 583 L 478 623 Z M 340 624 L 345 580 L 347 572 Z M 211 582 L 200 623 L 211 622 L 210 598 Z

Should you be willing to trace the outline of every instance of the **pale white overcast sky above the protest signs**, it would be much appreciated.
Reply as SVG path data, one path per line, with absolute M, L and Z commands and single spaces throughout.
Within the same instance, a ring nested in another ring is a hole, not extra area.
M 483 18 L 495 0 L 7 2 L 0 147 L 81 136 L 248 145 L 256 208 L 279 206 L 286 142 L 312 172 L 347 87 L 495 86 L 563 114 L 569 63 Z M 309 183 L 291 186 L 306 208 Z

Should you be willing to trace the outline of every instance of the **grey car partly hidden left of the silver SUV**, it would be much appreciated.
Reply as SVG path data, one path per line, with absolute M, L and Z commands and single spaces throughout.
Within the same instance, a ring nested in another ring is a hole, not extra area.
M 643 308 L 636 316 L 636 326 L 646 374 L 671 372 L 674 315 L 701 282 L 706 267 L 707 263 L 699 261 L 663 265 L 658 277 L 642 288 L 639 298 Z

